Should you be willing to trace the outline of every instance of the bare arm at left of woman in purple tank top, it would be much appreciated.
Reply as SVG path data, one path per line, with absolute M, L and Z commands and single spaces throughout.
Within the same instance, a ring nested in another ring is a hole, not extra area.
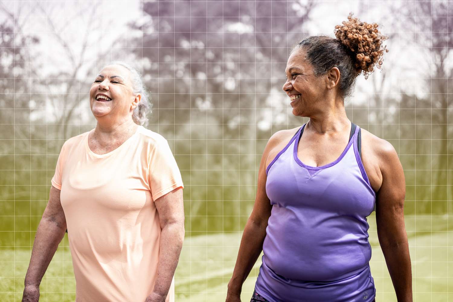
M 233 276 L 228 283 L 227 302 L 240 301 L 242 284 L 263 250 L 267 222 L 272 210 L 272 205 L 266 194 L 266 167 L 270 160 L 275 157 L 274 149 L 276 149 L 276 146 L 281 142 L 282 137 L 284 137 L 279 132 L 269 139 L 261 157 L 255 204 L 242 234 Z

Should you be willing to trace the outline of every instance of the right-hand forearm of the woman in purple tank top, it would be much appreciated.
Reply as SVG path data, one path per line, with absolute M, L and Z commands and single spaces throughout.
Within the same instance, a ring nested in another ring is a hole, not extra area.
M 412 302 L 412 269 L 407 241 L 382 247 L 398 302 Z

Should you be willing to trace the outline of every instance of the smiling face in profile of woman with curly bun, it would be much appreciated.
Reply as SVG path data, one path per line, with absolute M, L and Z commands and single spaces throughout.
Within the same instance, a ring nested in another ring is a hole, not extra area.
M 286 82 L 283 90 L 288 94 L 296 116 L 313 116 L 323 109 L 326 93 L 325 77 L 315 77 L 313 67 L 302 50 L 294 50 L 286 63 Z

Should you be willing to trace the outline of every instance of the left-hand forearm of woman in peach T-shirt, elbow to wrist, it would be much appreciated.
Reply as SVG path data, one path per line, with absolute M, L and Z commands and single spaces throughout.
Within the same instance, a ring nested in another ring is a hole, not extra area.
M 34 238 L 29 268 L 25 275 L 25 286 L 39 286 L 65 231 L 66 225 L 58 225 L 50 219 L 41 219 Z

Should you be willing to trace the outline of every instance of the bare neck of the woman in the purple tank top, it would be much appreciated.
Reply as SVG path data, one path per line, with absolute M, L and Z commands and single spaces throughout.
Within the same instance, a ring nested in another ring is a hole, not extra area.
M 349 129 L 351 125 L 342 101 L 333 102 L 333 106 L 329 110 L 324 110 L 309 118 L 306 128 L 319 134 L 342 132 Z

